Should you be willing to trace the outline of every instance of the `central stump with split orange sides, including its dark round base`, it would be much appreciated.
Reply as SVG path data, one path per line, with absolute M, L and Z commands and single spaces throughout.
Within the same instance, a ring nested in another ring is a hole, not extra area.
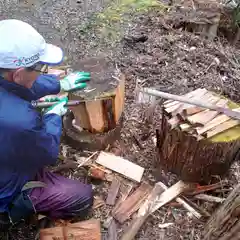
M 105 56 L 80 61 L 73 70 L 90 72 L 91 80 L 69 93 L 70 100 L 83 102 L 64 118 L 65 137 L 77 148 L 102 150 L 120 137 L 125 76 Z

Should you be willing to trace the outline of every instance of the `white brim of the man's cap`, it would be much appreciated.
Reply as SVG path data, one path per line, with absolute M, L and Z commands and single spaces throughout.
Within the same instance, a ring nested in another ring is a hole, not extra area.
M 40 57 L 40 62 L 48 65 L 58 65 L 63 61 L 63 51 L 61 48 L 47 44 L 45 53 Z

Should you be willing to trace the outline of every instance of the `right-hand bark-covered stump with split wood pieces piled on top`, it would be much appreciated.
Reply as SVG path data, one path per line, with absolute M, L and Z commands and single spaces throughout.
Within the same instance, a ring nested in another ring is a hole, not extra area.
M 206 89 L 186 96 L 218 106 L 238 107 Z M 164 109 L 161 129 L 157 130 L 159 164 L 184 181 L 208 183 L 213 175 L 225 174 L 240 149 L 239 121 L 175 101 L 167 101 Z

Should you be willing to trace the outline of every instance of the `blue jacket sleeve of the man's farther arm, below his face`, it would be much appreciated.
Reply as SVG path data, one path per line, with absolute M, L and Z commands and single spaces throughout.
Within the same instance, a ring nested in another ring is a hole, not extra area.
M 60 81 L 53 74 L 40 75 L 34 82 L 31 91 L 34 99 L 38 100 L 46 95 L 58 94 L 60 92 Z

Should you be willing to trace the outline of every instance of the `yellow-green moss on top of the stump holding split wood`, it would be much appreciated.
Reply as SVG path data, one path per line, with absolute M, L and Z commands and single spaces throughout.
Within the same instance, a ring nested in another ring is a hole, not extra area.
M 224 98 L 224 97 L 222 97 L 222 98 Z M 234 109 L 234 108 L 240 107 L 235 102 L 230 101 L 229 99 L 228 99 L 228 101 L 229 101 L 228 102 L 229 108 Z M 236 127 L 230 128 L 222 133 L 219 133 L 219 134 L 213 136 L 209 140 L 212 142 L 230 142 L 230 141 L 235 141 L 239 138 L 240 138 L 240 126 L 238 125 Z

